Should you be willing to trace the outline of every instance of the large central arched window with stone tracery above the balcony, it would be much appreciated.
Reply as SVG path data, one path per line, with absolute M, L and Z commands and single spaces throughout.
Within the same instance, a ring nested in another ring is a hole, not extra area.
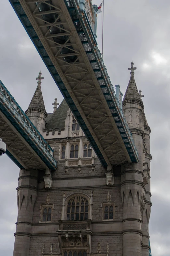
M 67 203 L 67 220 L 87 220 L 89 201 L 84 196 L 75 196 Z

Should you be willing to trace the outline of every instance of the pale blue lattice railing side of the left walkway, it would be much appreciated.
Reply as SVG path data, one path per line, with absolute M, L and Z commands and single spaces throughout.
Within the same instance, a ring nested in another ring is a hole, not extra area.
M 7 90 L 5 85 L 0 80 L 0 102 L 6 107 L 12 118 L 16 118 L 18 125 L 22 130 L 32 139 L 35 145 L 46 155 L 47 159 L 52 162 L 56 167 L 57 162 L 52 157 L 53 150 L 50 145 L 45 141 L 43 136 L 35 128 L 28 116 L 24 113 L 18 105 L 14 97 Z

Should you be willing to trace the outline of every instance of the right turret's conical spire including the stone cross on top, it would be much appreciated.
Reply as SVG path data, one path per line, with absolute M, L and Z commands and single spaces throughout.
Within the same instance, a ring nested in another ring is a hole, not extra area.
M 128 87 L 126 89 L 126 92 L 125 92 L 125 95 L 124 95 L 124 98 L 123 98 L 123 105 L 127 101 L 128 102 L 129 101 L 138 101 L 138 102 L 142 103 L 140 95 L 139 95 L 138 90 L 137 90 L 136 83 L 135 83 L 135 78 L 134 78 L 134 70 L 135 69 L 136 68 L 134 67 L 134 62 L 132 61 L 131 62 L 131 67 L 128 68 L 128 70 L 131 70 L 131 72 L 130 72 L 131 77 L 130 77 Z

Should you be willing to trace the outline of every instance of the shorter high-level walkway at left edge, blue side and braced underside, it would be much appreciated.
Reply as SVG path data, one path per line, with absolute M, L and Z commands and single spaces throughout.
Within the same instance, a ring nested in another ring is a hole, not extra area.
M 0 138 L 20 168 L 55 170 L 53 150 L 0 81 Z

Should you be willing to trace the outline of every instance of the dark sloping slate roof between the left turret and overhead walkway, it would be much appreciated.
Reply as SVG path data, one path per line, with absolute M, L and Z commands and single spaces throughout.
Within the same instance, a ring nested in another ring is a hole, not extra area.
M 62 129 L 65 127 L 65 119 L 69 107 L 65 100 L 59 105 L 57 110 L 52 113 L 50 120 L 46 123 L 46 129 Z

